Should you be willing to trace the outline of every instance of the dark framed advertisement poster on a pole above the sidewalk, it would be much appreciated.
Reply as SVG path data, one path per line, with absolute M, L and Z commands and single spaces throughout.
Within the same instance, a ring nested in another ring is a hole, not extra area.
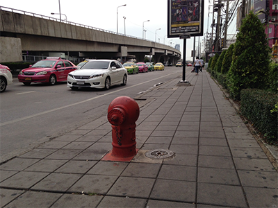
M 204 0 L 168 0 L 168 37 L 202 36 Z

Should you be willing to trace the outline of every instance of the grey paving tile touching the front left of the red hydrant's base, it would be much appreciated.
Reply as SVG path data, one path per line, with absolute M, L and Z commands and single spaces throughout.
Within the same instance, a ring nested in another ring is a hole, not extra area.
M 90 171 L 88 171 L 88 174 L 120 175 L 127 165 L 127 162 L 100 161 L 92 169 L 90 169 Z

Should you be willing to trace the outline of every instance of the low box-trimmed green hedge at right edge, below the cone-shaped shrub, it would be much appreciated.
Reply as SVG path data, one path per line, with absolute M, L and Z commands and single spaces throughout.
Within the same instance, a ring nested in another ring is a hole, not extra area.
M 240 111 L 270 144 L 278 144 L 278 112 L 270 112 L 278 94 L 263 89 L 242 89 Z

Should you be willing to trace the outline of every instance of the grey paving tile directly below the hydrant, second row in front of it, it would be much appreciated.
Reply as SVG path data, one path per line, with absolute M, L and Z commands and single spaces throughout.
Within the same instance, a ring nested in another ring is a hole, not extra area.
M 119 177 L 108 195 L 148 198 L 155 179 L 142 177 Z

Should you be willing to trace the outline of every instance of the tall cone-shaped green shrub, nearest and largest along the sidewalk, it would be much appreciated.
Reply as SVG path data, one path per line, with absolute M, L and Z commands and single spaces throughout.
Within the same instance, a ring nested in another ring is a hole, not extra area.
M 239 99 L 241 89 L 267 86 L 270 49 L 263 25 L 252 11 L 243 19 L 236 37 L 227 78 L 230 95 Z

